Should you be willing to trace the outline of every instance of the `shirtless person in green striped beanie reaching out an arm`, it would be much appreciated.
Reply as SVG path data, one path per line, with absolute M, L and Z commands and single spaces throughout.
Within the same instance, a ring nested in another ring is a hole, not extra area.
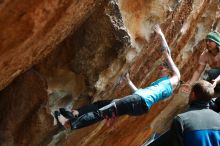
M 217 85 L 220 80 L 220 33 L 217 31 L 212 31 L 207 35 L 206 50 L 200 55 L 199 66 L 191 80 L 181 87 L 182 91 L 190 93 L 192 84 L 200 78 L 206 66 L 209 66 L 211 69 L 206 70 L 205 74 L 207 75 L 204 80 L 211 82 L 215 87 L 215 91 L 220 92 L 220 86 Z M 220 98 L 211 102 L 211 108 L 220 112 Z

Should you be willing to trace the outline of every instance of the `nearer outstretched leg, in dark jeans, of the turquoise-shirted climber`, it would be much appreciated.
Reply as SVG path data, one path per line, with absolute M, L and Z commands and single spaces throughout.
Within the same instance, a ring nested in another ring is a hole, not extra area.
M 79 129 L 97 123 L 105 118 L 113 116 L 132 115 L 138 116 L 146 113 L 148 108 L 145 101 L 139 95 L 129 95 L 121 99 L 113 100 L 110 104 L 97 111 L 89 112 L 71 120 L 72 129 Z

